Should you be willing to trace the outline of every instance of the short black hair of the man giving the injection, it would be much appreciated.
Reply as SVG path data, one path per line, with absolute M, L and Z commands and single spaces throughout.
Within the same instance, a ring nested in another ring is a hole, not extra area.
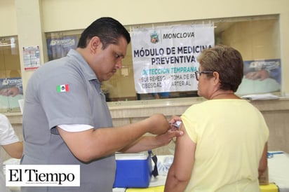
M 90 39 L 98 36 L 105 49 L 109 44 L 117 44 L 119 37 L 123 36 L 130 43 L 130 34 L 123 25 L 113 18 L 99 18 L 91 23 L 81 34 L 78 48 L 86 48 Z

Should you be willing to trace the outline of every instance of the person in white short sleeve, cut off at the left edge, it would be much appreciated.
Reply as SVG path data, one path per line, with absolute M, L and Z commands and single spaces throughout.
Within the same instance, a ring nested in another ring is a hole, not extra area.
M 19 141 L 17 135 L 13 130 L 13 127 L 4 114 L 0 114 L 0 145 L 12 158 L 21 158 L 23 153 L 23 143 Z M 4 172 L 3 172 L 3 160 L 1 158 L 0 148 L 0 191 L 8 192 L 6 187 Z

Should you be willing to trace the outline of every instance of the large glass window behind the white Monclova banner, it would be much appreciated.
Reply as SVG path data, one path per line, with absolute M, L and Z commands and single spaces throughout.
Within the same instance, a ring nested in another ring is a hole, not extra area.
M 129 30 L 131 27 L 149 28 L 152 25 L 156 27 L 202 23 L 212 23 L 215 26 L 215 44 L 232 46 L 243 55 L 244 77 L 236 92 L 238 95 L 280 92 L 281 56 L 278 15 L 133 25 L 127 26 L 127 29 Z M 48 55 L 53 55 L 50 60 L 63 57 L 67 54 L 68 48 L 74 48 L 72 41 L 79 39 L 81 31 L 47 33 Z M 53 38 L 58 39 L 58 41 L 51 43 Z M 57 45 L 58 48 L 53 49 L 53 45 Z M 74 46 L 76 45 L 77 43 Z M 102 90 L 107 95 L 107 101 L 198 96 L 196 90 L 163 92 L 158 95 L 152 93 L 137 94 L 135 92 L 131 43 L 128 45 L 122 69 L 118 70 L 109 81 L 103 83 Z

